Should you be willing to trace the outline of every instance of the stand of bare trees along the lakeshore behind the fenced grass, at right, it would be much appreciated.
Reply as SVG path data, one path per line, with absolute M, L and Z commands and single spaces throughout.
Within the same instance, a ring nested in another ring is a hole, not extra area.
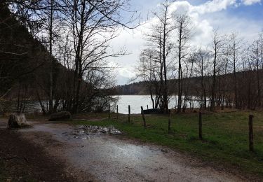
M 196 48 L 191 45 L 191 18 L 170 13 L 171 4 L 166 1 L 153 13 L 156 22 L 145 34 L 146 48 L 137 66 L 137 78 L 144 80 L 153 107 L 168 113 L 172 94 L 177 94 L 178 113 L 196 101 L 210 111 L 262 107 L 263 34 L 246 43 L 235 32 L 215 30 L 209 45 Z

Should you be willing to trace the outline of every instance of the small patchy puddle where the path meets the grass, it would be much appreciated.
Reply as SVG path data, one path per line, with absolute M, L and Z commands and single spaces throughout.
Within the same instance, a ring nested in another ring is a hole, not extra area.
M 71 133 L 75 139 L 90 139 L 91 136 L 100 134 L 122 134 L 113 126 L 101 127 L 93 125 L 79 125 Z

